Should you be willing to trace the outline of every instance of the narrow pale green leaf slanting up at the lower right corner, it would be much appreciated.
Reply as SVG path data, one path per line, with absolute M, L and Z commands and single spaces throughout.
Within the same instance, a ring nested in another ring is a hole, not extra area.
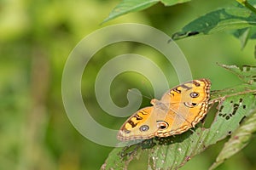
M 235 155 L 238 151 L 243 149 L 252 138 L 253 133 L 256 132 L 256 112 L 249 116 L 245 121 L 241 122 L 241 127 L 232 133 L 228 142 L 224 144 L 223 150 L 218 154 L 216 161 L 212 164 L 210 169 L 214 169 L 222 164 L 230 156 Z

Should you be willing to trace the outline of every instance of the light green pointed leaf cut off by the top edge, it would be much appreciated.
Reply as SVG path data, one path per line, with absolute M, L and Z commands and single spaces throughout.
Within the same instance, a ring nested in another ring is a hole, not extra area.
M 103 20 L 102 23 L 108 20 L 113 20 L 123 14 L 128 14 L 131 12 L 141 11 L 145 8 L 153 6 L 155 3 L 164 3 L 166 6 L 172 6 L 177 3 L 186 3 L 190 0 L 123 0 L 119 3 L 113 11 L 108 15 L 108 18 Z

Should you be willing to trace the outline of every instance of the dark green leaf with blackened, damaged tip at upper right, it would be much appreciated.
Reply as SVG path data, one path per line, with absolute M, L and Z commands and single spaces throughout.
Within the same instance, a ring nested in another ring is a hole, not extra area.
M 256 26 L 256 14 L 247 8 L 222 8 L 193 20 L 182 31 L 174 33 L 172 39 L 209 35 L 250 26 Z

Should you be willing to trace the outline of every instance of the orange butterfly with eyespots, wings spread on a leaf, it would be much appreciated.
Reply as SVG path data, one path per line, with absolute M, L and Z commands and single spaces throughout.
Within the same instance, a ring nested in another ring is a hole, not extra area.
M 207 115 L 211 82 L 207 79 L 184 82 L 166 92 L 160 100 L 151 99 L 145 107 L 120 127 L 121 141 L 168 137 L 186 132 Z

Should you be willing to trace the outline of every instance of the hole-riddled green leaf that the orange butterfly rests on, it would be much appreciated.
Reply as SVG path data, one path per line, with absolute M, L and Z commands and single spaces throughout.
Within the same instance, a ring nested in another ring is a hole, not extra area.
M 221 66 L 236 73 L 244 82 L 253 82 L 247 76 L 254 74 L 254 67 L 243 67 L 247 68 L 244 71 L 236 65 Z M 209 127 L 206 127 L 204 123 L 199 123 L 194 129 L 180 135 L 144 140 L 142 143 L 127 146 L 122 150 L 115 148 L 109 154 L 108 160 L 104 163 L 106 168 L 103 169 L 126 169 L 129 162 L 142 153 L 148 153 L 148 169 L 165 170 L 182 167 L 193 156 L 200 154 L 211 144 L 216 144 L 219 140 L 235 132 L 244 117 L 250 116 L 252 111 L 255 112 L 255 93 L 254 83 L 212 91 L 211 102 L 219 101 L 219 103 L 217 112 L 207 113 L 206 121 L 207 117 L 215 115 Z M 248 133 L 253 133 L 253 130 Z

